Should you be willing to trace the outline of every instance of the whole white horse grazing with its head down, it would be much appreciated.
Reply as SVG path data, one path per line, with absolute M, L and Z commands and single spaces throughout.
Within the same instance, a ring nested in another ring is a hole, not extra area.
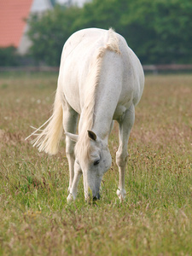
M 125 38 L 112 29 L 88 28 L 73 33 L 64 45 L 52 116 L 33 141 L 39 151 L 55 154 L 63 129 L 69 165 L 69 195 L 77 196 L 83 174 L 84 197 L 100 198 L 102 176 L 111 166 L 108 136 L 113 120 L 119 123 L 120 200 L 125 198 L 127 144 L 135 119 L 135 106 L 143 94 L 143 67 Z M 80 118 L 79 118 L 80 115 Z M 79 135 L 76 129 L 79 119 Z

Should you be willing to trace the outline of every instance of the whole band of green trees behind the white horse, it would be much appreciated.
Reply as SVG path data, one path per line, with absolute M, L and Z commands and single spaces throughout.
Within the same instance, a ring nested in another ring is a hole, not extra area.
M 192 63 L 190 0 L 93 0 L 78 7 L 58 6 L 31 20 L 32 54 L 59 65 L 62 45 L 85 27 L 113 27 L 143 64 Z

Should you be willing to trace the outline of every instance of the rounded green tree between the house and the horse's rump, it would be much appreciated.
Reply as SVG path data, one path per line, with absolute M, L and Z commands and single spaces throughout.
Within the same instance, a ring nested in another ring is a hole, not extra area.
M 28 36 L 32 40 L 30 52 L 38 63 L 59 65 L 63 44 L 74 32 L 73 21 L 79 12 L 78 7 L 56 6 L 43 16 L 32 15 Z

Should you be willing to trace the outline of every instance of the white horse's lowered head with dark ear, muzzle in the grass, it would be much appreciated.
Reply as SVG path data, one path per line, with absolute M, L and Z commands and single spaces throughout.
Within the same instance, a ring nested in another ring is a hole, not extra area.
M 108 144 L 96 136 L 93 131 L 88 131 L 89 146 L 79 142 L 75 148 L 76 163 L 79 165 L 84 177 L 84 197 L 88 199 L 92 194 L 93 199 L 100 198 L 100 186 L 102 177 L 111 166 L 112 158 L 108 150 Z M 67 133 L 67 136 L 74 140 L 74 136 Z M 83 148 L 82 148 L 83 147 Z M 85 149 L 85 150 L 84 150 Z

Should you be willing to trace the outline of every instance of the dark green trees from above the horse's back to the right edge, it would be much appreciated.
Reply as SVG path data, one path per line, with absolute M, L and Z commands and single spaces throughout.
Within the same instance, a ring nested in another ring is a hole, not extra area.
M 122 34 L 143 63 L 192 62 L 189 0 L 93 0 L 76 24 Z

